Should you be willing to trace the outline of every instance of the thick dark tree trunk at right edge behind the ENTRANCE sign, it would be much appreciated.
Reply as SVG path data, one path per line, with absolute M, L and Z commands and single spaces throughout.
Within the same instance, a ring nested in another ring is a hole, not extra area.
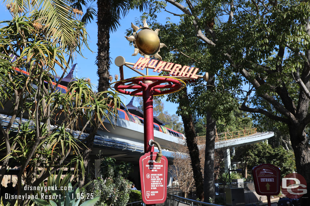
M 295 154 L 297 173 L 301 174 L 310 185 L 310 148 L 304 128 L 298 128 L 295 125 L 289 125 L 290 139 Z M 300 187 L 300 189 L 303 189 Z M 301 206 L 310 205 L 310 190 L 301 198 Z

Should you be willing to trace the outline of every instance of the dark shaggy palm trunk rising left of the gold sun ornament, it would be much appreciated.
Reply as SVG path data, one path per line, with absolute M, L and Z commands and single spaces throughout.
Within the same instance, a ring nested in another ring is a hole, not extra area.
M 109 87 L 109 68 L 110 68 L 110 22 L 111 6 L 110 1 L 97 1 L 97 24 L 98 24 L 98 56 L 97 74 L 99 76 L 98 91 L 106 91 Z

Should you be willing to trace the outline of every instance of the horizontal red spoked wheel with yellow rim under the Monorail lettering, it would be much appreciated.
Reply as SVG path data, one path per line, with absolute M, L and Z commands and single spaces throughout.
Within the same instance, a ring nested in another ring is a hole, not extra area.
M 114 90 L 125 95 L 142 96 L 143 90 L 152 88 L 153 95 L 159 96 L 179 91 L 185 86 L 185 82 L 173 77 L 143 76 L 115 82 Z

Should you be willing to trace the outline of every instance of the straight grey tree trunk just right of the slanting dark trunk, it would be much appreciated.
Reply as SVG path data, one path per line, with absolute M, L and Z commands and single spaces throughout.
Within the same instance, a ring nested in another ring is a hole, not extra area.
M 206 114 L 206 151 L 205 151 L 205 167 L 203 191 L 205 194 L 205 201 L 209 202 L 209 198 L 215 200 L 214 187 L 214 147 L 215 147 L 215 131 L 216 121 L 212 118 L 210 111 Z

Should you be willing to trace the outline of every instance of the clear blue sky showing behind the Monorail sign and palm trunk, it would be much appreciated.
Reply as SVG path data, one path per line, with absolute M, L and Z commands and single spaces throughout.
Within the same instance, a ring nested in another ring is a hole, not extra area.
M 177 11 L 175 7 L 170 7 L 170 11 L 175 13 L 180 13 Z M 5 4 L 2 4 L 0 6 L 0 12 L 1 12 L 1 20 L 7 20 L 11 19 L 11 15 L 8 10 L 6 10 Z M 129 45 L 129 41 L 126 40 L 125 32 L 126 29 L 131 28 L 131 22 L 135 22 L 135 19 L 139 19 L 139 16 L 141 13 L 139 11 L 130 11 L 130 13 L 121 20 L 121 26 L 117 29 L 116 32 L 111 33 L 110 35 L 110 58 L 112 61 L 112 64 L 110 66 L 110 74 L 114 77 L 115 74 L 119 75 L 119 68 L 114 64 L 114 59 L 117 56 L 123 56 L 127 62 L 135 63 L 139 57 L 141 57 L 139 54 L 135 57 L 132 57 L 131 54 L 134 52 L 134 47 Z M 158 21 L 160 22 L 166 22 L 166 17 L 170 17 L 170 21 L 178 21 L 178 17 L 175 17 L 173 15 L 168 14 L 167 12 L 162 13 L 158 15 Z M 141 22 L 142 23 L 142 22 Z M 155 30 L 156 28 L 153 28 Z M 98 76 L 97 76 L 97 65 L 95 65 L 95 58 L 97 55 L 97 24 L 96 19 L 92 22 L 87 24 L 86 31 L 89 35 L 89 46 L 93 53 L 89 51 L 87 48 L 84 47 L 84 50 L 82 51 L 82 54 L 85 58 L 78 55 L 73 63 L 78 63 L 78 69 L 77 73 L 74 72 L 74 75 L 78 78 L 90 78 L 91 83 L 96 86 L 98 86 Z M 150 71 L 151 72 L 151 71 Z M 150 75 L 152 75 L 150 73 Z M 131 78 L 135 76 L 140 76 L 139 74 L 135 73 L 129 68 L 124 67 L 124 77 L 125 78 Z M 125 95 L 125 97 L 122 97 L 122 101 L 126 104 L 129 103 L 130 99 L 132 97 Z M 166 102 L 165 97 L 162 99 L 162 101 L 165 104 L 165 111 L 168 111 L 170 114 L 175 114 L 177 104 Z

